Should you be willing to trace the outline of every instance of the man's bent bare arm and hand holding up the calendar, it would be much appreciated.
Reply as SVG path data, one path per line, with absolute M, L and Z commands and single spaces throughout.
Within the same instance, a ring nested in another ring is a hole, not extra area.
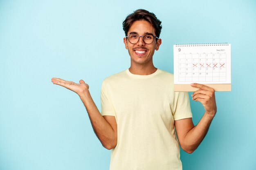
M 200 88 L 192 94 L 192 99 L 203 104 L 205 113 L 196 126 L 191 118 L 175 121 L 180 146 L 188 153 L 192 153 L 202 142 L 217 110 L 213 88 L 202 84 L 192 86 Z

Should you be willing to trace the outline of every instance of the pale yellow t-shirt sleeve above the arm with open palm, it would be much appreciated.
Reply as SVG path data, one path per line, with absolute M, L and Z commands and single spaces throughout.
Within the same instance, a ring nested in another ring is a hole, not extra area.
M 103 81 L 101 85 L 101 115 L 102 116 L 115 116 L 114 110 L 110 103 L 106 82 Z

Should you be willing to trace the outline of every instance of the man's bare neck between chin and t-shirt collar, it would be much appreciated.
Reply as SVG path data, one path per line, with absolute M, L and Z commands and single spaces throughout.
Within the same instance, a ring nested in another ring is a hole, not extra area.
M 157 71 L 157 68 L 152 64 L 151 66 L 130 66 L 129 68 L 130 73 L 136 75 L 150 75 Z

